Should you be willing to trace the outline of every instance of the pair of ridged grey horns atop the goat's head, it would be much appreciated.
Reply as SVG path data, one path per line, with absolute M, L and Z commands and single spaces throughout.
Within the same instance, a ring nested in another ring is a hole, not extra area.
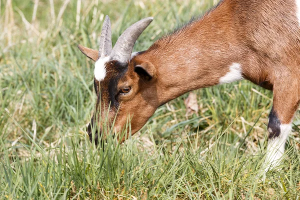
M 109 56 L 109 60 L 127 62 L 131 57 L 135 41 L 152 20 L 153 17 L 147 17 L 130 25 L 117 39 L 112 48 L 110 20 L 106 15 L 102 25 L 98 57 Z

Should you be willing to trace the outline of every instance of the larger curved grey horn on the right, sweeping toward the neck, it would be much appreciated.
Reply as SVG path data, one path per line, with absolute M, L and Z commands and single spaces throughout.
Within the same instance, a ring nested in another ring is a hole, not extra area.
M 151 23 L 153 17 L 147 17 L 130 25 L 117 39 L 111 51 L 109 60 L 127 62 L 137 37 Z

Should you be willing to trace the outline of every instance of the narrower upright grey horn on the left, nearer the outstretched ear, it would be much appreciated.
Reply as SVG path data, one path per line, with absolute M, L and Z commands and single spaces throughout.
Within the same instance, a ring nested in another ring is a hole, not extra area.
M 99 57 L 109 56 L 111 53 L 111 28 L 110 28 L 110 20 L 109 17 L 106 15 L 100 36 L 100 46 L 99 46 Z

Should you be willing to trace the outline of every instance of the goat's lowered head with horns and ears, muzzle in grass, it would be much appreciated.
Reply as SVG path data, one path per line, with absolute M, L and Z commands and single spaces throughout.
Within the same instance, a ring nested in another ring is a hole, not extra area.
M 104 126 L 119 132 L 130 121 L 131 134 L 135 133 L 159 106 L 154 66 L 145 59 L 138 59 L 140 53 L 136 53 L 135 58 L 131 59 L 137 37 L 152 19 L 148 17 L 132 24 L 121 34 L 112 48 L 110 21 L 106 16 L 99 50 L 78 45 L 83 54 L 95 61 L 94 89 L 97 101 L 87 127 L 90 139 L 92 129 L 95 130 L 95 143 L 101 134 L 102 139 L 107 136 Z

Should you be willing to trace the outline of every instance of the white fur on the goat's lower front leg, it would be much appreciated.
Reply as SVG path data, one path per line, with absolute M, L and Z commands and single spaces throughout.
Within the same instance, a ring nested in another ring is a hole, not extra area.
M 268 130 L 271 131 L 271 130 Z M 269 139 L 266 148 L 265 171 L 270 167 L 278 166 L 284 153 L 285 141 L 291 132 L 291 123 L 280 125 L 280 135 Z

